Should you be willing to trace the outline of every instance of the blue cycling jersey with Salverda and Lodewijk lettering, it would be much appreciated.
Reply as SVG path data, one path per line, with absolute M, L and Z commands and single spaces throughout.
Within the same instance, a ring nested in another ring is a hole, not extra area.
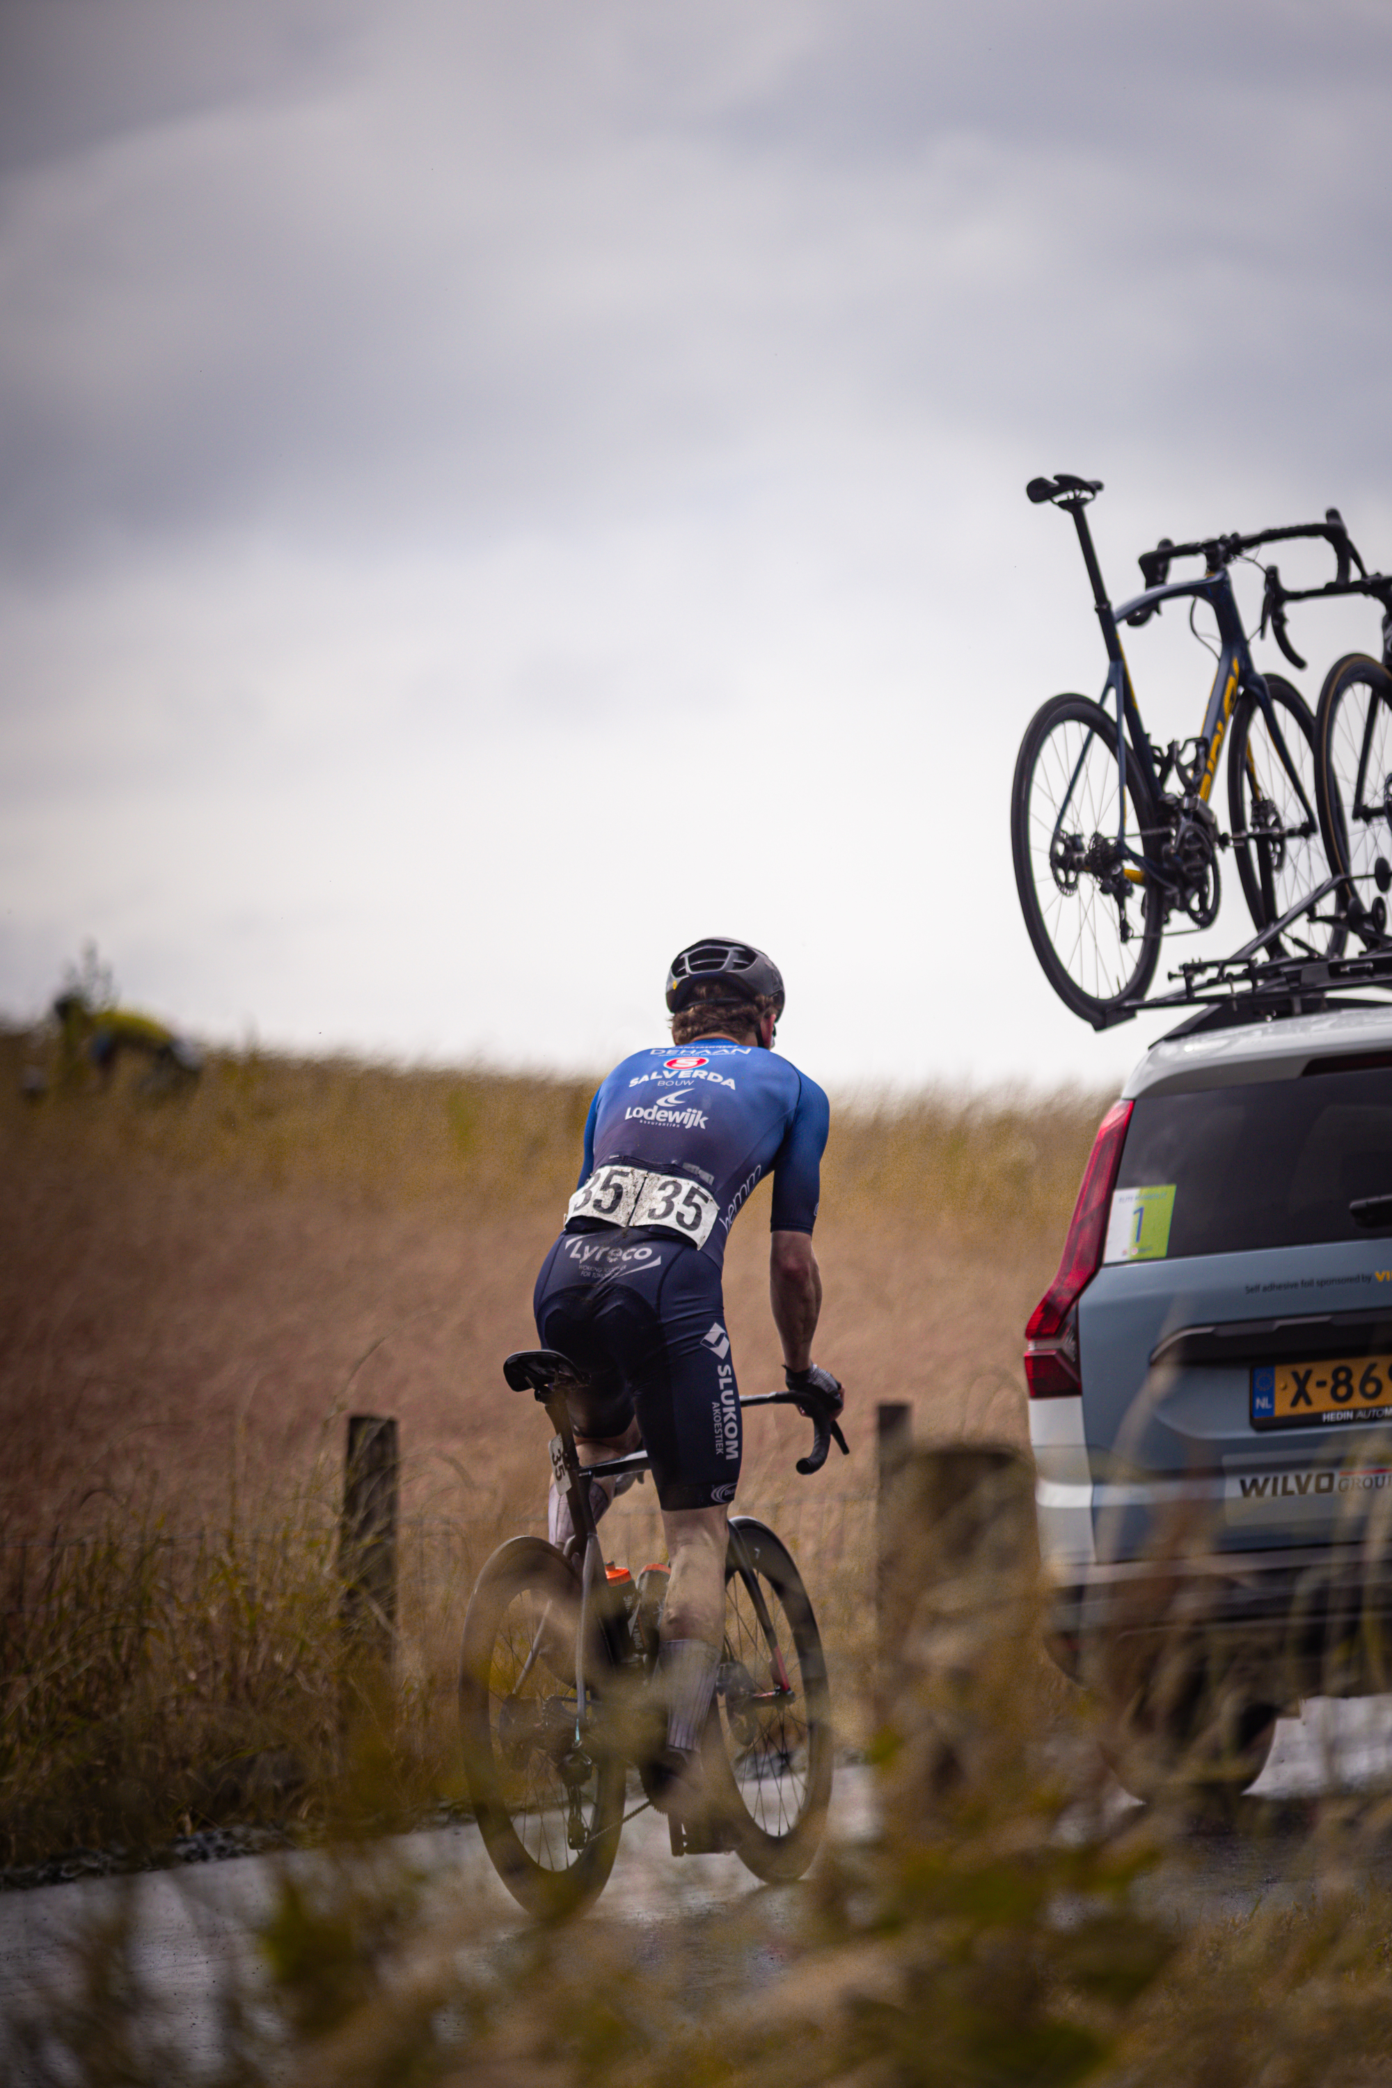
M 774 1173 L 774 1232 L 812 1232 L 831 1105 L 787 1059 L 720 1038 L 634 1052 L 601 1082 L 584 1123 L 580 1186 L 634 1167 L 697 1182 L 716 1205 L 701 1253 L 724 1261 L 741 1205 Z M 601 1217 L 601 1205 L 593 1217 Z M 680 1219 L 678 1219 L 680 1224 Z

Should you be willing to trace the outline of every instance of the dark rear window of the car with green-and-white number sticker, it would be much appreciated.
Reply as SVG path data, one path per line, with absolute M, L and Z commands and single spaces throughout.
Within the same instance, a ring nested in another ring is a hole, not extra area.
M 1392 1194 L 1392 1069 L 1319 1071 L 1321 1079 L 1142 1094 L 1121 1155 L 1106 1259 L 1386 1238 L 1390 1226 L 1354 1226 L 1348 1205 Z M 1152 1244 L 1144 1244 L 1146 1221 L 1129 1226 L 1129 1213 L 1156 1203 L 1160 1228 L 1150 1224 Z

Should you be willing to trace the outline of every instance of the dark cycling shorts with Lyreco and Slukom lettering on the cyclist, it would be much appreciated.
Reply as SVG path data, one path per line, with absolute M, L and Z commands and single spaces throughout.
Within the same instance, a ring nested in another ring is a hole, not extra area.
M 659 1226 L 572 1228 L 532 1305 L 543 1347 L 591 1380 L 586 1434 L 618 1437 L 637 1414 L 664 1508 L 730 1501 L 741 1424 L 720 1265 Z

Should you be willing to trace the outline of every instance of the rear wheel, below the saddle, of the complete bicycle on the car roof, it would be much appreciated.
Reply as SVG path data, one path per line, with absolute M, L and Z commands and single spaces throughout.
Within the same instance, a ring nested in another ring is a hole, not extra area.
M 1014 764 L 1014 881 L 1046 979 L 1094 1029 L 1150 986 L 1165 919 L 1133 860 L 1154 848 L 1156 814 L 1129 752 L 1125 821 L 1117 785 L 1117 722 L 1083 695 L 1050 697 Z

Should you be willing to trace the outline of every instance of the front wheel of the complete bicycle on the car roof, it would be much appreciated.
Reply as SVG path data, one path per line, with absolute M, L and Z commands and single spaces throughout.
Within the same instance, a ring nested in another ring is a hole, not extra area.
M 1233 710 L 1227 743 L 1227 810 L 1242 896 L 1254 927 L 1267 929 L 1329 877 L 1329 858 L 1317 810 L 1315 718 L 1300 691 L 1281 674 L 1267 674 L 1271 716 L 1254 695 Z M 1273 729 L 1275 727 L 1275 729 Z M 1279 735 L 1279 739 L 1277 739 Z M 1342 906 L 1321 902 L 1319 921 L 1298 921 L 1281 956 L 1296 946 L 1313 956 L 1338 956 L 1346 929 Z

